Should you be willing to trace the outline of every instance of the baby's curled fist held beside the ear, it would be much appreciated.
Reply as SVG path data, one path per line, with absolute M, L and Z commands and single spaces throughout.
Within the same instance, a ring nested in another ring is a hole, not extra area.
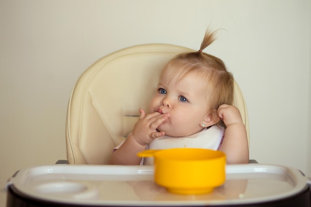
M 232 105 L 223 104 L 218 108 L 218 116 L 224 121 L 226 127 L 241 123 L 243 124 L 240 111 Z

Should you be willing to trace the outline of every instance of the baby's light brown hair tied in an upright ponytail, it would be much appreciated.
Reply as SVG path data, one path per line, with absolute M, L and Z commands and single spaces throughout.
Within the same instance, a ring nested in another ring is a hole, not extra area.
M 197 52 L 182 53 L 171 59 L 167 67 L 172 68 L 168 76 L 172 77 L 179 74 L 177 81 L 181 80 L 190 72 L 198 72 L 206 78 L 207 87 L 211 87 L 210 94 L 210 113 L 214 120 L 218 119 L 217 109 L 222 104 L 233 104 L 233 75 L 227 71 L 224 62 L 210 54 L 202 52 L 215 40 L 215 32 L 206 31 L 201 43 L 200 50 Z M 220 120 L 216 125 L 225 124 Z

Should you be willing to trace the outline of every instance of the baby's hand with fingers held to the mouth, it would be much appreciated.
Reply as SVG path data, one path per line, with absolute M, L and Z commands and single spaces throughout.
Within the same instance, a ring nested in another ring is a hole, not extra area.
M 165 122 L 169 117 L 168 114 L 160 114 L 154 112 L 146 115 L 143 109 L 140 109 L 139 121 L 135 124 L 133 130 L 134 139 L 141 145 L 146 145 L 152 142 L 155 138 L 164 136 L 164 132 L 157 132 L 156 128 Z

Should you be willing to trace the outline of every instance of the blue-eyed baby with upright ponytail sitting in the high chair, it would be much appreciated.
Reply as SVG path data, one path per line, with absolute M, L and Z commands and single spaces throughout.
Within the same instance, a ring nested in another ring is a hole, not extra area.
M 248 142 L 233 104 L 233 75 L 219 58 L 202 52 L 215 40 L 207 31 L 200 50 L 179 54 L 161 72 L 149 114 L 140 109 L 133 132 L 110 164 L 137 165 L 145 149 L 196 147 L 221 150 L 227 163 L 248 163 Z M 146 159 L 146 158 L 145 158 Z M 152 164 L 145 160 L 144 164 Z

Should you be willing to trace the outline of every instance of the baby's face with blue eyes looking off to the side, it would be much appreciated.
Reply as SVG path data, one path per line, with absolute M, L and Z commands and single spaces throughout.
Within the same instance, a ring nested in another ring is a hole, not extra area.
M 210 116 L 210 90 L 206 79 L 193 72 L 180 81 L 177 81 L 177 75 L 168 79 L 166 70 L 163 70 L 157 91 L 149 104 L 149 113 L 169 114 L 169 118 L 157 129 L 170 137 L 185 137 L 200 132 L 203 129 L 201 124 Z

